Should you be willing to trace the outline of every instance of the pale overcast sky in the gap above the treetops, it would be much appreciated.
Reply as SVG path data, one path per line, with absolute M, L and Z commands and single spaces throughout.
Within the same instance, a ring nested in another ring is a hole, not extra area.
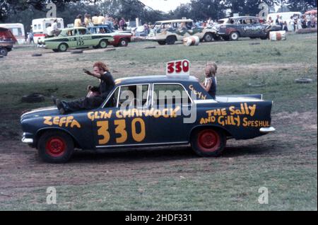
M 155 10 L 170 11 L 174 10 L 180 4 L 189 3 L 190 0 L 140 0 L 146 6 L 149 6 Z

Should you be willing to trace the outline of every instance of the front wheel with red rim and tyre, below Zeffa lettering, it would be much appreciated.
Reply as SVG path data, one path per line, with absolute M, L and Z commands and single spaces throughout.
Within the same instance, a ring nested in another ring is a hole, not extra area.
M 38 141 L 37 149 L 40 158 L 47 163 L 66 163 L 73 155 L 74 143 L 64 132 L 45 132 Z

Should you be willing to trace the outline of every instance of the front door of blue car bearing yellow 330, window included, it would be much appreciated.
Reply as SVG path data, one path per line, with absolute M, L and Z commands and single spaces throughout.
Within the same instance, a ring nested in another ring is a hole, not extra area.
M 97 149 L 147 144 L 150 84 L 118 86 L 102 108 L 90 113 Z

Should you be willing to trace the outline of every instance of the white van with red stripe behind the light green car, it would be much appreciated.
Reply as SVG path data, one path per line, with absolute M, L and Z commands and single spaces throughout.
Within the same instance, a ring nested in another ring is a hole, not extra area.
M 57 28 L 64 29 L 63 18 L 37 18 L 32 21 L 33 41 L 35 43 L 40 39 L 44 39 L 47 35 L 47 27 L 57 19 Z

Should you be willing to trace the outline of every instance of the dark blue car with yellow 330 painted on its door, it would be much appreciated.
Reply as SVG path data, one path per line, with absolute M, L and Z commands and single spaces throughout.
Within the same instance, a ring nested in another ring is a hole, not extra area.
M 44 161 L 64 163 L 74 148 L 191 144 L 199 156 L 219 156 L 229 138 L 275 131 L 272 101 L 261 95 L 213 100 L 193 76 L 137 76 L 115 83 L 95 110 L 61 115 L 52 107 L 24 113 L 22 142 L 37 148 Z

